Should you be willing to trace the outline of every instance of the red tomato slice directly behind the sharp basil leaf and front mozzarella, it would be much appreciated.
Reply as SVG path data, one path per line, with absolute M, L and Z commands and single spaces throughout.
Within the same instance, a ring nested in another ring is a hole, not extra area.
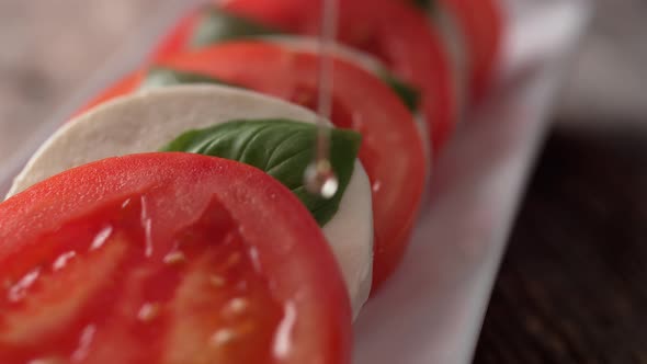
M 160 64 L 316 109 L 318 58 L 310 53 L 245 42 L 177 55 Z M 137 79 L 141 73 L 106 94 L 115 95 L 115 90 L 124 91 Z M 382 80 L 336 60 L 333 86 L 332 123 L 363 136 L 360 159 L 373 185 L 375 289 L 393 273 L 408 243 L 424 184 L 424 152 L 411 114 Z

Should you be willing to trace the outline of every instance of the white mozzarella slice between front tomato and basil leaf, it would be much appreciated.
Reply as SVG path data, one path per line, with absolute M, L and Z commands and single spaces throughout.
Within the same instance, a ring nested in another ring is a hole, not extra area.
M 259 93 L 219 86 L 178 86 L 120 98 L 56 132 L 14 180 L 13 195 L 48 177 L 94 160 L 156 151 L 183 132 L 241 118 L 316 115 Z M 371 183 L 359 161 L 339 211 L 324 227 L 356 316 L 368 297 L 373 269 Z

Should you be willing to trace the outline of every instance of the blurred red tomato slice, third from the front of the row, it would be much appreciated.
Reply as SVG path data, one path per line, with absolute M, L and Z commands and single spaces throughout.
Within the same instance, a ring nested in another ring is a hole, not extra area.
M 232 13 L 288 33 L 317 35 L 321 0 L 229 0 Z M 163 59 L 185 49 L 201 16 L 191 13 L 155 53 Z M 339 41 L 373 54 L 402 80 L 422 92 L 422 112 L 430 124 L 430 140 L 438 152 L 457 121 L 457 100 L 449 55 L 440 33 L 412 7 L 393 0 L 341 0 Z M 434 153 L 435 156 L 436 153 Z

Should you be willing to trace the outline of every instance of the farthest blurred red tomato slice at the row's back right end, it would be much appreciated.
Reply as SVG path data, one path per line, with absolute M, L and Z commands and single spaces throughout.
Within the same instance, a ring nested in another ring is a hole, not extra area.
M 496 70 L 503 33 L 497 0 L 441 0 L 459 22 L 469 49 L 472 100 L 480 101 Z

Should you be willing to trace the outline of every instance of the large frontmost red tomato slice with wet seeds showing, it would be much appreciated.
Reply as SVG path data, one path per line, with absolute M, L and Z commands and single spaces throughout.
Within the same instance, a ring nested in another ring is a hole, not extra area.
M 0 204 L 0 274 L 1 363 L 350 363 L 320 229 L 235 161 L 136 155 L 41 182 Z

